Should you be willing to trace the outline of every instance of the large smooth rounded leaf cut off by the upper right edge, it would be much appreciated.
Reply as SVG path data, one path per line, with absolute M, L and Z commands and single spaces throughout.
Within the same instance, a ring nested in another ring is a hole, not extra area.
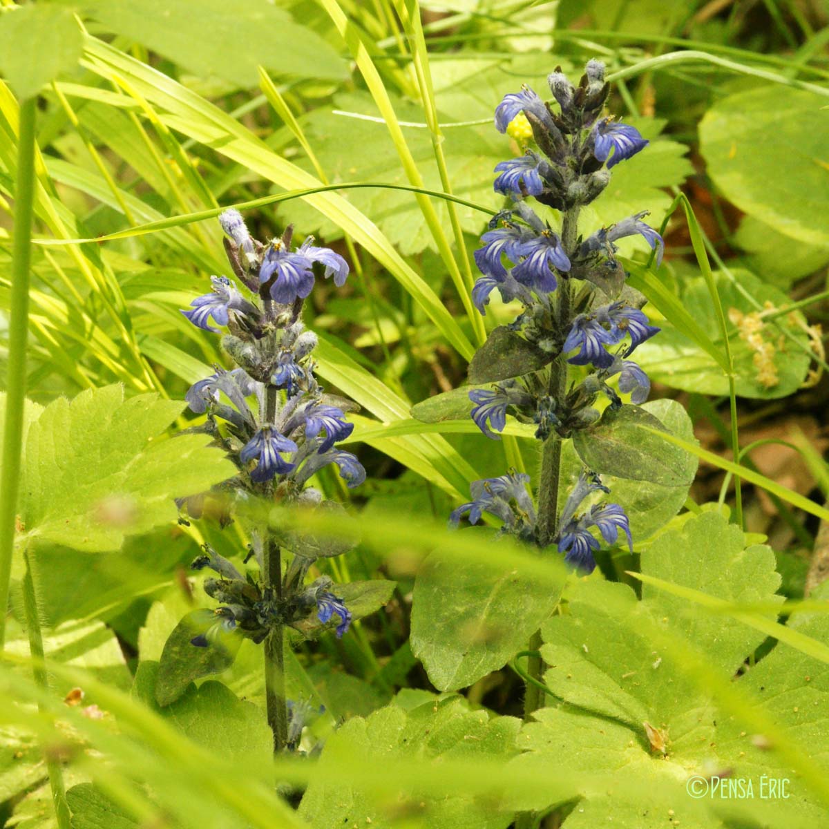
M 825 98 L 767 85 L 709 109 L 700 122 L 700 148 L 718 190 L 741 211 L 778 233 L 825 247 L 825 130 Z

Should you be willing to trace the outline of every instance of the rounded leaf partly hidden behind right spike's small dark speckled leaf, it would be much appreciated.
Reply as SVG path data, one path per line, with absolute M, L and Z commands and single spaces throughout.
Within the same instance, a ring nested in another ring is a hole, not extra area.
M 685 407 L 676 400 L 652 400 L 642 405 L 642 409 L 653 414 L 662 424 L 683 440 L 696 443 L 694 427 Z M 691 453 L 686 454 L 687 473 L 693 478 L 696 473 L 697 459 Z M 561 453 L 562 474 L 559 485 L 559 503 L 563 504 L 584 468 L 581 458 L 576 454 L 571 440 L 565 441 Z M 610 495 L 604 497 L 613 503 L 621 504 L 630 521 L 630 531 L 636 549 L 653 533 L 662 529 L 670 521 L 688 496 L 690 485 L 683 487 L 666 487 L 650 481 L 634 481 L 630 478 L 615 478 L 603 475 L 602 482 L 610 489 Z M 598 493 L 595 502 L 603 496 Z M 587 505 L 585 505 L 587 506 Z

